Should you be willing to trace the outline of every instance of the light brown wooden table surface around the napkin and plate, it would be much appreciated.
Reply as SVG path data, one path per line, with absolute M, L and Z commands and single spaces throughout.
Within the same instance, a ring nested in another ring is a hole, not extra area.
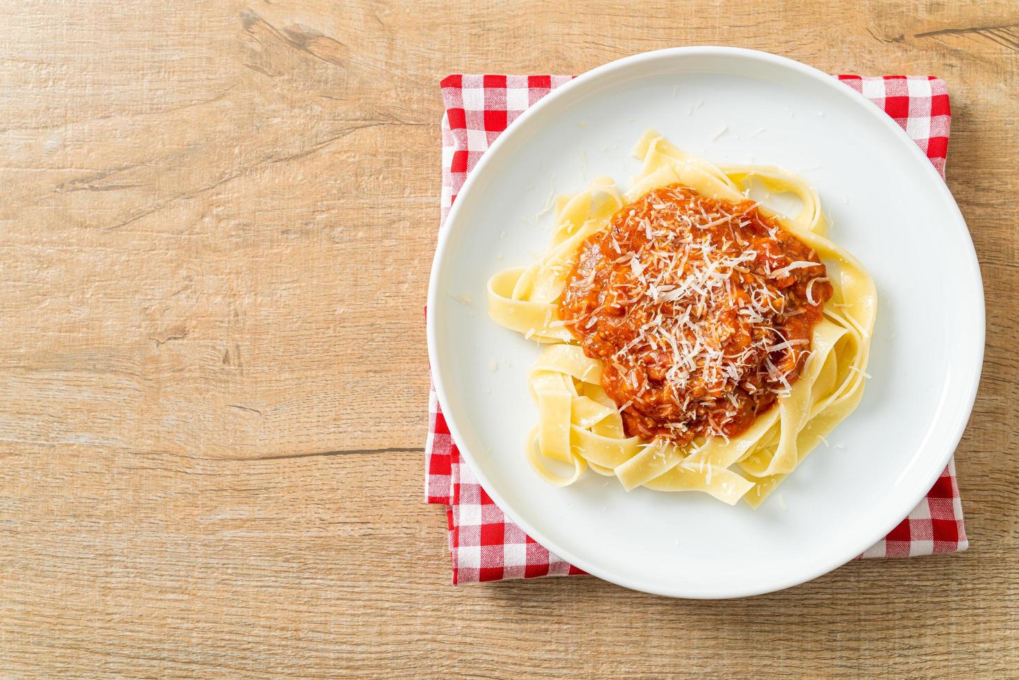
M 1017 677 L 1019 6 L 488 4 L 3 3 L 0 676 Z M 988 301 L 972 547 L 734 601 L 451 587 L 438 81 L 689 44 L 949 83 Z

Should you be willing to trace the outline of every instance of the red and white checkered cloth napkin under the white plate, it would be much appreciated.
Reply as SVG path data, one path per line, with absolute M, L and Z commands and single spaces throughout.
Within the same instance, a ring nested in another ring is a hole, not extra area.
M 568 83 L 569 75 L 450 75 L 442 81 L 442 219 L 477 164 L 506 125 L 527 107 Z M 945 174 L 949 145 L 948 88 L 933 76 L 839 75 L 895 118 Z M 481 488 L 449 436 L 435 390 L 429 399 L 425 444 L 428 503 L 446 506 L 452 582 L 583 574 L 539 545 Z M 525 465 L 521 453 L 521 465 Z M 535 478 L 535 483 L 541 483 Z M 900 558 L 964 551 L 968 542 L 956 484 L 955 461 L 927 496 L 863 558 Z

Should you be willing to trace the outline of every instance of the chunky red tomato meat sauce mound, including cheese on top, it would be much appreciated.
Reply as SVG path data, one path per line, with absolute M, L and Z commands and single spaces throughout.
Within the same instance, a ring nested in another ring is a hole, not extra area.
M 832 295 L 817 254 L 755 203 L 674 185 L 582 244 L 558 311 L 627 434 L 682 446 L 738 435 L 789 394 Z

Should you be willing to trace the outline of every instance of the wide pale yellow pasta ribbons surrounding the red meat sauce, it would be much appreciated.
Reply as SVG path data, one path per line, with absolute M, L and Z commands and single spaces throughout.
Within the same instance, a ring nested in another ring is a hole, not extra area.
M 802 177 L 777 167 L 714 165 L 653 130 L 634 153 L 643 167 L 629 191 L 621 194 L 611 179 L 599 177 L 584 192 L 559 197 L 547 251 L 530 266 L 505 269 L 488 282 L 491 318 L 545 345 L 528 378 L 539 413 L 528 436 L 528 459 L 553 484 L 572 484 L 590 468 L 616 477 L 627 490 L 699 490 L 730 505 L 744 499 L 756 508 L 859 404 L 876 306 L 873 281 L 855 257 L 826 238 L 817 194 Z M 829 283 L 832 295 L 813 325 L 802 370 L 772 407 L 734 436 L 696 436 L 682 444 L 664 436 L 628 436 L 626 406 L 618 406 L 603 387 L 602 362 L 585 354 L 560 318 L 560 296 L 578 251 L 621 208 L 649 192 L 681 185 L 736 204 L 747 200 L 751 178 L 799 199 L 793 217 L 761 205 L 756 209 L 837 269 L 806 285 L 811 304 L 820 283 Z M 570 472 L 555 472 L 564 467 Z

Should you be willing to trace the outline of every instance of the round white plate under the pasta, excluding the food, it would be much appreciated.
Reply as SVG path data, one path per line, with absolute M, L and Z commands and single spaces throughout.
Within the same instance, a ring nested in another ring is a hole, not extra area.
M 627 493 L 590 472 L 557 488 L 524 456 L 536 419 L 526 377 L 538 348 L 489 320 L 485 282 L 546 247 L 551 216 L 534 224 L 534 215 L 553 187 L 578 191 L 599 174 L 626 185 L 639 166 L 630 149 L 647 127 L 713 161 L 801 172 L 834 220 L 830 236 L 877 284 L 873 378 L 859 409 L 828 437 L 833 448 L 819 447 L 756 512 L 700 493 Z M 474 303 L 455 299 L 463 296 Z M 581 569 L 685 597 L 789 587 L 883 537 L 930 488 L 962 435 L 979 379 L 983 323 L 966 224 L 902 128 L 814 68 L 721 47 L 622 59 L 530 108 L 460 192 L 428 292 L 439 402 L 495 503 Z

